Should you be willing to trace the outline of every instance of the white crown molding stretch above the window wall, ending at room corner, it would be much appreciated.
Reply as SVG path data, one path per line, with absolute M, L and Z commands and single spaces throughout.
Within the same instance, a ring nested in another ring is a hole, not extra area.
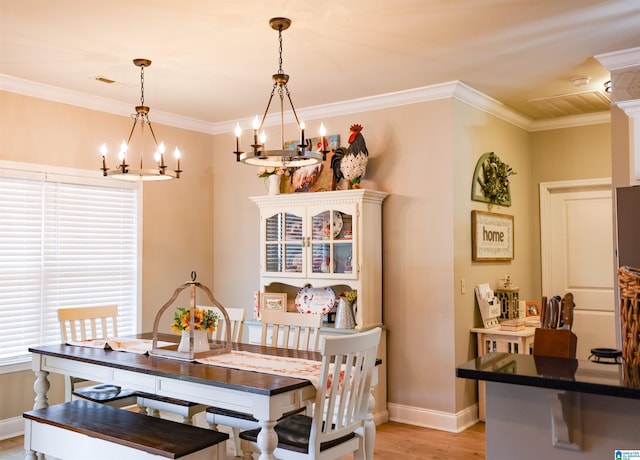
M 108 99 L 106 97 L 94 96 L 44 83 L 37 83 L 6 74 L 0 74 L 0 90 L 126 117 L 129 117 L 129 115 L 123 114 L 130 114 L 132 107 L 131 104 L 125 104 L 124 102 Z M 209 122 L 169 112 L 163 112 L 161 110 L 153 111 L 153 122 L 174 126 L 176 128 L 188 129 L 190 131 L 211 134 L 211 123 Z

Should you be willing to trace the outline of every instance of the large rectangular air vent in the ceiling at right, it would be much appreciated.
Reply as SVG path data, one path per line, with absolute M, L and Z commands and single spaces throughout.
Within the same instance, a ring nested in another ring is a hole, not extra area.
M 600 91 L 561 94 L 559 96 L 529 99 L 542 118 L 566 117 L 585 113 L 606 112 L 611 107 L 609 98 Z

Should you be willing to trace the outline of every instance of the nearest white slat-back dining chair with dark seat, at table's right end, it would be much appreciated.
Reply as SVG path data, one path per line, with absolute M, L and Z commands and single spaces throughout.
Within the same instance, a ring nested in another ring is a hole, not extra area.
M 364 458 L 364 424 L 380 334 L 377 327 L 322 337 L 313 414 L 296 414 L 276 424 L 276 458 L 337 459 L 351 452 Z M 260 428 L 243 431 L 240 438 L 257 448 L 259 433 Z

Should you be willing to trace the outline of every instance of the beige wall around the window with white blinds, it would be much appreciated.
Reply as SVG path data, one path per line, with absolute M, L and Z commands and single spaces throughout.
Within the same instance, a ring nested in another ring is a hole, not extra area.
M 153 111 L 150 118 L 153 122 Z M 0 91 L 0 129 L 1 160 L 97 170 L 99 144 L 119 145 L 131 129 L 131 120 Z M 185 173 L 180 180 L 143 186 L 145 330 L 151 329 L 156 312 L 174 289 L 189 280 L 191 270 L 197 271 L 204 284 L 213 283 L 212 138 L 156 123 L 154 129 L 160 139 L 180 146 Z M 167 318 L 166 323 L 169 321 Z M 0 375 L 0 383 L 0 420 L 17 417 L 32 407 L 31 371 Z M 10 388 L 22 388 L 25 397 L 16 398 Z M 52 401 L 61 395 L 54 394 Z

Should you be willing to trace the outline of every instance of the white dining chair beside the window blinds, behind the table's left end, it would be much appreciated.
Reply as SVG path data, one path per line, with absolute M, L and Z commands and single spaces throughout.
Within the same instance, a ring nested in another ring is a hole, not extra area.
M 118 335 L 118 306 L 91 306 L 58 309 L 62 342 L 105 339 Z M 114 407 L 132 406 L 137 403 L 137 393 L 111 384 L 87 384 L 87 380 L 65 375 L 65 401 L 82 398 Z

